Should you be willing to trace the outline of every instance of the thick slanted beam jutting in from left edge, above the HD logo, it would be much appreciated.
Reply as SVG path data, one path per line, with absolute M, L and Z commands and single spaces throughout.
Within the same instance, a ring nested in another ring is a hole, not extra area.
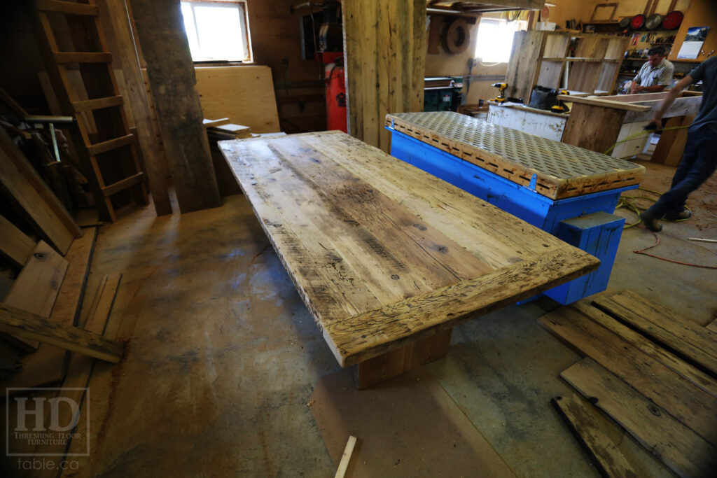
M 118 363 L 123 344 L 107 340 L 73 325 L 52 322 L 32 312 L 0 304 L 0 332 L 19 335 L 42 343 Z

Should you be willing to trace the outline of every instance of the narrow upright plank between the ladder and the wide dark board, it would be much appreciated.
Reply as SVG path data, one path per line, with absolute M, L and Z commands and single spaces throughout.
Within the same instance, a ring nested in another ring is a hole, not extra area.
M 167 183 L 161 168 L 161 160 L 158 157 L 158 141 L 151 120 L 149 102 L 125 0 L 100 0 L 98 4 L 100 11 L 105 13 L 100 15 L 100 19 L 105 22 L 107 31 L 113 34 L 113 53 L 122 67 L 124 90 L 128 99 L 127 103 L 130 106 L 130 113 L 132 113 L 131 117 L 136 126 L 138 149 L 141 150 L 144 159 L 144 169 L 147 173 L 154 209 L 158 216 L 171 214 L 172 207 Z

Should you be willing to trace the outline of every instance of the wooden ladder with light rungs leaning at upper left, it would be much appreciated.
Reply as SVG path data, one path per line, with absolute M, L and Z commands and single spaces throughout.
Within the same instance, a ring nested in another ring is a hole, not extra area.
M 77 118 L 73 140 L 90 179 L 100 219 L 115 221 L 110 196 L 128 189 L 136 204 L 148 204 L 148 196 L 136 137 L 128 128 L 112 54 L 107 51 L 100 24 L 100 10 L 95 0 L 34 0 L 27 5 L 62 113 Z M 53 31 L 52 20 L 60 23 L 62 18 L 67 21 L 69 39 Z M 75 64 L 77 67 L 72 68 Z M 105 178 L 112 182 L 107 183 Z M 126 195 L 122 198 L 125 202 Z

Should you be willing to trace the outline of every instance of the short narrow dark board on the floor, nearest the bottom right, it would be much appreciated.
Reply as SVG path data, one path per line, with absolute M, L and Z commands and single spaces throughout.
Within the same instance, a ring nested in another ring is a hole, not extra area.
M 600 428 L 595 412 L 587 408 L 580 398 L 575 395 L 555 397 L 551 403 L 602 476 L 637 478 L 635 469 Z

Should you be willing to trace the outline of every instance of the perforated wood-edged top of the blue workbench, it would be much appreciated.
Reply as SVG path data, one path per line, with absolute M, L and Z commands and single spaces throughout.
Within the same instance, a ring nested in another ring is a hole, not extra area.
M 391 113 L 386 126 L 503 178 L 564 199 L 639 184 L 645 168 L 452 111 Z

